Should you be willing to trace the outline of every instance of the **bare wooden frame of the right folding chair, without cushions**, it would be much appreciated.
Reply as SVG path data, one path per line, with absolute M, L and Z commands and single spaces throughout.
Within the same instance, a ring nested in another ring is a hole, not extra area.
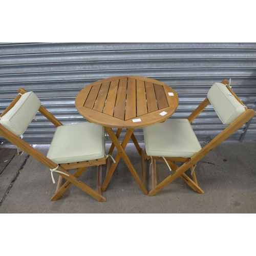
M 230 91 L 230 93 L 236 97 L 236 99 L 244 105 L 244 103 L 237 97 L 237 95 L 230 89 L 228 86 L 228 81 L 224 79 L 222 81 L 223 84 L 226 84 L 227 89 Z M 187 118 L 188 121 L 191 123 L 209 104 L 209 100 L 206 97 L 206 99 L 197 107 L 197 109 L 189 115 Z M 249 121 L 253 116 L 255 115 L 255 111 L 252 109 L 247 109 L 245 107 L 245 112 L 237 118 L 235 121 L 233 121 L 230 125 L 226 127 L 218 136 L 216 136 L 214 139 L 212 139 L 207 145 L 205 145 L 198 153 L 196 153 L 191 158 L 181 158 L 181 157 L 165 157 L 166 161 L 168 162 L 170 168 L 174 171 L 174 174 L 169 175 L 167 178 L 165 178 L 161 183 L 157 184 L 157 174 L 156 174 L 156 160 L 160 159 L 163 162 L 164 159 L 162 157 L 152 157 L 152 190 L 148 193 L 148 196 L 155 196 L 159 191 L 161 191 L 164 187 L 166 187 L 168 184 L 173 182 L 175 179 L 180 177 L 183 179 L 191 188 L 193 188 L 197 193 L 203 194 L 203 190 L 198 186 L 196 173 L 195 173 L 195 167 L 198 161 L 200 161 L 204 156 L 206 156 L 210 151 L 214 150 L 215 147 L 217 147 L 220 143 L 222 143 L 224 140 L 226 140 L 231 134 L 236 132 L 243 124 L 245 124 L 247 121 Z M 151 159 L 150 156 L 145 154 L 145 159 Z M 183 164 L 178 167 L 175 164 L 175 161 L 177 162 L 183 162 Z M 185 172 L 191 169 L 192 170 L 192 179 L 190 179 Z

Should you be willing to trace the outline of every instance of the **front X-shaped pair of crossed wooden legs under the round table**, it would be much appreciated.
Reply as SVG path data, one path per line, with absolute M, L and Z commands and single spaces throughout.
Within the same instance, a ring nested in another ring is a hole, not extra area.
M 102 185 L 102 192 L 105 191 L 106 186 L 108 186 L 110 179 L 114 173 L 114 170 L 116 168 L 116 165 L 118 164 L 120 158 L 122 157 L 122 159 L 124 160 L 125 164 L 127 165 L 127 167 L 129 168 L 131 174 L 133 175 L 133 177 L 135 178 L 135 180 L 137 181 L 139 187 L 141 188 L 141 190 L 143 191 L 144 195 L 147 195 L 147 190 L 145 188 L 145 186 L 143 185 L 139 175 L 137 174 L 136 170 L 133 167 L 133 164 L 131 163 L 129 157 L 127 156 L 127 154 L 124 151 L 124 148 L 126 147 L 127 143 L 129 142 L 131 136 L 133 135 L 133 131 L 134 129 L 127 129 L 127 132 L 124 136 L 124 139 L 122 141 L 122 143 L 120 144 L 118 138 L 116 137 L 116 135 L 114 134 L 113 130 L 110 127 L 105 127 L 105 131 L 109 134 L 110 138 L 112 139 L 115 147 L 118 150 L 118 153 L 116 155 L 115 161 L 116 163 L 113 163 L 111 166 L 111 169 L 108 173 L 108 175 L 106 176 L 103 185 Z

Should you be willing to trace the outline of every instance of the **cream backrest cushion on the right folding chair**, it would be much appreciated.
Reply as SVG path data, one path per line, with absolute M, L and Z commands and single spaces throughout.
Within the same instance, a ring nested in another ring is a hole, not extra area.
M 224 124 L 230 124 L 245 112 L 245 106 L 226 88 L 223 83 L 214 83 L 207 97 Z

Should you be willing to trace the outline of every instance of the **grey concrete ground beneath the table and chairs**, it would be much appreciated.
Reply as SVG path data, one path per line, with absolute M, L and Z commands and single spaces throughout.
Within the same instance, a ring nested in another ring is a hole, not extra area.
M 202 145 L 206 142 L 202 142 Z M 144 144 L 140 143 L 144 149 Z M 107 144 L 106 152 L 108 152 Z M 3 147 L 3 145 L 2 145 Z M 47 154 L 49 145 L 36 145 Z M 133 144 L 127 154 L 140 172 L 140 157 Z M 109 186 L 103 193 L 106 202 L 98 202 L 72 185 L 57 201 L 50 170 L 27 154 L 14 156 L 0 176 L 0 213 L 250 213 L 256 212 L 256 140 L 225 141 L 203 158 L 196 168 L 199 186 L 197 194 L 183 180 L 177 179 L 154 197 L 143 195 L 124 162 L 120 160 Z M 149 163 L 146 161 L 147 189 L 151 189 Z M 169 170 L 157 162 L 158 179 Z M 105 176 L 103 167 L 102 178 Z M 57 181 L 58 175 L 54 174 Z M 96 188 L 96 167 L 91 167 L 81 180 Z

